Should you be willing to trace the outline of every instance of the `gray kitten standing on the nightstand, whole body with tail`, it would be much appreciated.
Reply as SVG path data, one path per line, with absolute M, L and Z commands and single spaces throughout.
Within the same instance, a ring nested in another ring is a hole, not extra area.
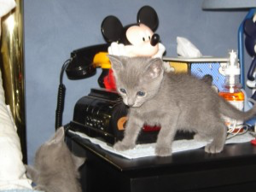
M 115 143 L 116 150 L 134 148 L 137 136 L 147 125 L 160 125 L 155 154 L 172 154 L 177 130 L 195 131 L 195 138 L 212 138 L 207 153 L 224 148 L 227 127 L 222 115 L 231 119 L 250 119 L 256 107 L 244 113 L 218 96 L 211 79 L 196 79 L 187 73 L 164 73 L 158 58 L 109 55 L 117 91 L 130 107 L 125 137 Z M 256 106 L 256 105 L 255 105 Z

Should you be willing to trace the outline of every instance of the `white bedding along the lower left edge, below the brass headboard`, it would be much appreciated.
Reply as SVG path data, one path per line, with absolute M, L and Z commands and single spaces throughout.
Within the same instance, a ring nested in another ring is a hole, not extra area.
M 4 102 L 0 71 L 0 190 L 32 189 L 22 162 L 20 138 L 16 132 L 12 113 Z

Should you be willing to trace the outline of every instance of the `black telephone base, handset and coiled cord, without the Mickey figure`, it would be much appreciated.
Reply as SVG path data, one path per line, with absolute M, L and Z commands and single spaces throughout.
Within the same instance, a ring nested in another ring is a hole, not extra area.
M 76 49 L 71 53 L 61 69 L 61 81 L 58 92 L 55 128 L 61 126 L 64 109 L 66 88 L 62 83 L 63 74 L 68 79 L 90 78 L 96 74 L 96 67 L 108 65 L 106 49 L 108 44 L 99 44 L 83 49 Z M 99 64 L 99 61 L 103 63 Z M 104 71 L 103 71 L 104 72 Z M 101 76 L 98 79 L 101 85 Z M 73 120 L 66 125 L 73 131 L 84 132 L 90 137 L 97 137 L 108 144 L 113 144 L 123 138 L 128 108 L 115 90 L 101 88 L 91 89 L 88 96 L 79 99 L 74 107 Z M 160 127 L 144 126 L 138 143 L 153 143 Z

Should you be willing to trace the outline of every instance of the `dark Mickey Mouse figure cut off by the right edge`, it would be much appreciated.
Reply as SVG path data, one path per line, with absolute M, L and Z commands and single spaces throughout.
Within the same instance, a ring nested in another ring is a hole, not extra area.
M 245 38 L 245 46 L 247 49 L 247 53 L 253 57 L 253 61 L 247 73 L 247 86 L 256 88 L 256 14 L 253 16 L 252 19 L 247 19 L 244 22 L 244 32 L 246 34 Z M 256 91 L 254 91 L 253 100 L 256 101 Z

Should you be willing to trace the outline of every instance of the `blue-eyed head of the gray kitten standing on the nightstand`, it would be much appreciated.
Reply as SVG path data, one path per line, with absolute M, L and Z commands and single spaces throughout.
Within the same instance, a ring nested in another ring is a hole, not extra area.
M 109 55 L 117 91 L 125 105 L 138 108 L 157 94 L 163 76 L 160 59 Z

